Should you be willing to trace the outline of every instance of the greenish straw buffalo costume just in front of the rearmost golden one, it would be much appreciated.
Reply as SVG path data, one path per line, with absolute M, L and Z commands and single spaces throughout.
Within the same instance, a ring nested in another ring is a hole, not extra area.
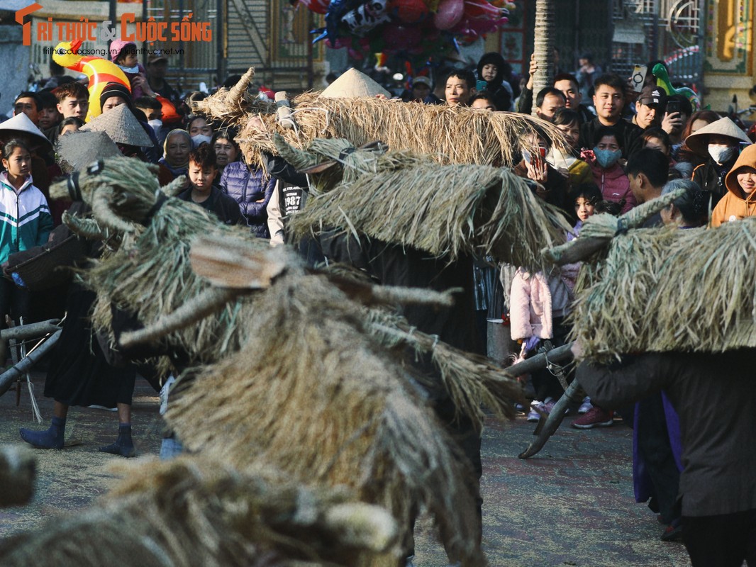
M 313 174 L 316 184 L 318 175 L 333 181 L 336 172 L 343 181 L 292 215 L 295 234 L 342 228 L 450 261 L 477 254 L 535 267 L 541 263 L 541 247 L 562 243 L 569 231 L 559 212 L 507 169 L 439 166 L 429 156 L 410 152 L 355 151 L 339 139 L 314 141 L 314 152 L 291 152 L 279 144 L 295 165 L 305 163 L 308 154 L 318 161 L 345 153 L 347 147 L 352 153 L 339 166 Z

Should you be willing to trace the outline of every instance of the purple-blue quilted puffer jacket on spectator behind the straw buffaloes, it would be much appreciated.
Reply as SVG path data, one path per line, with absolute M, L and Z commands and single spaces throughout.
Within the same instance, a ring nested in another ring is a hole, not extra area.
M 221 188 L 239 203 L 241 215 L 256 237 L 271 237 L 266 209 L 275 185 L 275 178 L 265 178 L 262 169 L 249 169 L 243 162 L 229 163 L 223 169 Z

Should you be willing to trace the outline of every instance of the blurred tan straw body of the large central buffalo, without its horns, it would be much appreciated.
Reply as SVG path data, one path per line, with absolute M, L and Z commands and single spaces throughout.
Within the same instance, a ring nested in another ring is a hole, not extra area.
M 246 343 L 175 390 L 166 419 L 187 448 L 242 471 L 270 463 L 297 482 L 347 485 L 388 507 L 403 537 L 427 508 L 445 543 L 477 558 L 459 448 L 360 306 L 324 278 L 288 275 L 255 305 Z

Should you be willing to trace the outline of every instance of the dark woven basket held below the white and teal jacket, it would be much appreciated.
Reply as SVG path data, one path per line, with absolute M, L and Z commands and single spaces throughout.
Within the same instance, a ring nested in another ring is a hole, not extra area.
M 42 253 L 26 262 L 15 265 L 12 271 L 23 280 L 29 291 L 48 290 L 70 280 L 70 270 L 76 260 L 84 256 L 84 247 L 79 237 L 72 234 L 60 243 L 42 249 Z

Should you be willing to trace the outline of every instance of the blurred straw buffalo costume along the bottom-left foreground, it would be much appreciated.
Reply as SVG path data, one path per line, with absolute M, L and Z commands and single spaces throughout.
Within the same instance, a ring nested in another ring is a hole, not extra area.
M 98 507 L 0 544 L 3 565 L 343 565 L 392 556 L 395 521 L 343 489 L 197 457 L 130 467 Z M 385 560 L 385 559 L 384 559 Z

